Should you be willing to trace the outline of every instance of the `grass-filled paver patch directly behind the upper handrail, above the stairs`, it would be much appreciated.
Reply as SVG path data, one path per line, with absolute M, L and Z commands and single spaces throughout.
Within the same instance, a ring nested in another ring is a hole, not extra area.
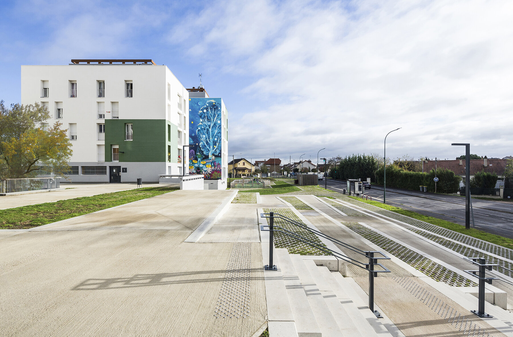
M 292 212 L 288 208 L 265 208 L 264 213 L 280 213 L 283 216 L 286 216 L 287 218 L 297 221 L 299 223 L 305 224 L 301 219 L 295 215 L 294 212 Z M 267 219 L 267 224 L 269 224 L 269 218 Z M 307 231 L 305 229 L 302 229 L 298 226 L 295 226 L 285 220 L 274 218 L 274 226 L 280 226 L 284 229 L 291 231 L 293 233 L 297 233 L 298 235 L 308 239 L 309 241 L 315 242 L 316 244 L 319 244 L 323 247 L 326 247 L 319 237 L 315 234 L 313 234 L 310 231 Z M 317 248 L 314 248 L 308 244 L 305 244 L 305 242 L 302 242 L 298 239 L 295 239 L 291 236 L 288 236 L 281 232 L 274 232 L 274 247 L 276 248 L 286 248 L 289 252 L 289 254 L 300 254 L 300 255 L 330 255 L 328 253 L 323 252 L 322 250 L 319 250 Z

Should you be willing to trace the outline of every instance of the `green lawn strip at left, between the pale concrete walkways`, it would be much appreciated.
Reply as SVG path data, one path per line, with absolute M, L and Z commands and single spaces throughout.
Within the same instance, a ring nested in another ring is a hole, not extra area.
M 147 187 L 0 210 L 0 229 L 26 229 L 179 190 Z

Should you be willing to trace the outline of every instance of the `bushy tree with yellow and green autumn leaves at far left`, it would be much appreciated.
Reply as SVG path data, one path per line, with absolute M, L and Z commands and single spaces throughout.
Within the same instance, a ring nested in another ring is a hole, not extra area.
M 0 101 L 0 178 L 33 177 L 41 166 L 55 174 L 69 171 L 67 129 L 59 122 L 42 127 L 49 118 L 48 109 L 38 103 L 9 108 Z

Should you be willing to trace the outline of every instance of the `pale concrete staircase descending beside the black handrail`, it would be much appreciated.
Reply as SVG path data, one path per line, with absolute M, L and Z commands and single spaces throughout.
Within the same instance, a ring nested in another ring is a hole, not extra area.
M 392 336 L 368 309 L 365 292 L 352 278 L 330 271 L 325 266 L 330 264 L 316 265 L 326 256 L 315 260 L 274 249 L 273 258 L 278 271 L 264 273 L 270 336 Z M 334 266 L 330 269 L 338 270 Z M 395 332 L 394 336 L 402 335 Z

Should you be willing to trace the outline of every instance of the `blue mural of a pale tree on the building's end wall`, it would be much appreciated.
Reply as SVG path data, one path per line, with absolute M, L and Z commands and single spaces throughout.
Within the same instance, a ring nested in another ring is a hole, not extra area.
M 189 174 L 221 179 L 221 99 L 189 99 Z

